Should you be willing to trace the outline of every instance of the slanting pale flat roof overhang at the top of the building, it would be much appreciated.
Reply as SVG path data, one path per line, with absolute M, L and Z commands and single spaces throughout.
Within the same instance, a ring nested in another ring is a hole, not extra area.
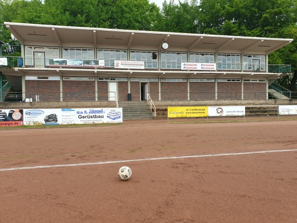
M 293 39 L 152 32 L 4 22 L 22 45 L 270 54 Z

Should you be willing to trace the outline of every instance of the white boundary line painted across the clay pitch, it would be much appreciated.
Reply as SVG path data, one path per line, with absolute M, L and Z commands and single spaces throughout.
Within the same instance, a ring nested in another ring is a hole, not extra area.
M 42 168 L 53 168 L 53 167 L 78 167 L 78 166 L 118 164 L 118 163 L 142 162 L 142 161 L 153 161 L 153 160 L 173 160 L 173 159 L 187 159 L 187 158 L 199 158 L 199 157 L 221 157 L 221 156 L 259 154 L 259 153 L 281 153 L 281 152 L 292 152 L 292 151 L 297 151 L 297 149 L 268 150 L 268 151 L 242 152 L 242 153 L 206 154 L 206 155 L 179 156 L 179 157 L 157 157 L 157 158 L 144 158 L 144 159 L 134 159 L 134 160 L 105 161 L 105 162 L 96 162 L 96 163 L 45 165 L 45 166 L 35 166 L 35 167 L 12 167 L 12 168 L 1 168 L 0 171 L 20 170 L 20 169 L 42 169 Z

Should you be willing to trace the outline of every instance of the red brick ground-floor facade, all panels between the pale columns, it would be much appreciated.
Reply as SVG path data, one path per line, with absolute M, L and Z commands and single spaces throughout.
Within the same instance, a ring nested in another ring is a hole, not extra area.
M 132 101 L 142 100 L 141 82 L 131 81 Z M 98 101 L 108 100 L 108 81 L 98 81 Z M 215 82 L 190 82 L 190 100 L 215 100 Z M 60 101 L 60 81 L 26 80 L 30 98 L 40 101 Z M 128 101 L 128 81 L 117 81 L 118 101 Z M 243 99 L 266 99 L 266 83 L 244 82 Z M 95 101 L 94 81 L 63 81 L 63 101 Z M 159 100 L 159 83 L 148 82 L 149 96 Z M 188 82 L 161 82 L 161 100 L 188 100 Z M 26 96 L 28 97 L 28 96 Z M 217 82 L 218 100 L 241 100 L 242 82 Z

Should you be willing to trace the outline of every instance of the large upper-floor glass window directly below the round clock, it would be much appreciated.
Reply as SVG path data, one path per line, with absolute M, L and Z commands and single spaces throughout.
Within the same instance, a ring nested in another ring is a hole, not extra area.
M 187 53 L 161 52 L 162 69 L 181 69 L 182 62 L 187 62 Z

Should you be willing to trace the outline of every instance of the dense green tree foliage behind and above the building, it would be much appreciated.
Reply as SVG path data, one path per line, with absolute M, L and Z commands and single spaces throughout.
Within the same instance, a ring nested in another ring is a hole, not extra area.
M 295 41 L 269 56 L 269 63 L 292 64 L 296 90 L 297 0 L 2 0 L 0 40 L 17 45 L 3 22 L 201 33 Z M 286 81 L 285 81 L 286 80 Z

